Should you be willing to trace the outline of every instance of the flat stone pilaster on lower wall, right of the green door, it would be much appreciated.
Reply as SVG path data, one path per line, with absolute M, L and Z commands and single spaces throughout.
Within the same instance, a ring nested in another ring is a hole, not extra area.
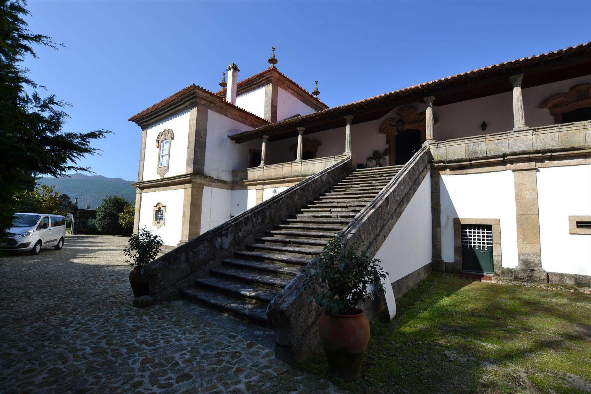
M 547 282 L 540 250 L 537 169 L 513 169 L 517 213 L 517 260 L 514 277 L 527 282 Z

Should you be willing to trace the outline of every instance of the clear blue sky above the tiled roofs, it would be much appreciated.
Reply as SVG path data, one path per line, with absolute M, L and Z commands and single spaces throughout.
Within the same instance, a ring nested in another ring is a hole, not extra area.
M 31 76 L 70 102 L 66 130 L 114 134 L 79 164 L 136 180 L 141 130 L 129 117 L 196 83 L 217 91 L 229 63 L 239 80 L 277 67 L 329 106 L 586 43 L 591 2 L 569 1 L 30 1 L 40 48 Z

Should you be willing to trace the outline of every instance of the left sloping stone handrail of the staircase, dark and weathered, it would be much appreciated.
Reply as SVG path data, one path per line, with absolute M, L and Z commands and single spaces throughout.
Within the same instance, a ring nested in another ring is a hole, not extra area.
M 218 266 L 235 250 L 253 242 L 256 234 L 268 230 L 342 179 L 350 166 L 352 159 L 342 157 L 340 162 L 147 264 L 142 276 L 150 282 L 150 297 L 154 302 L 168 301 L 171 296 L 178 296 L 181 289 L 194 286 L 195 280 L 204 276 L 207 269 Z

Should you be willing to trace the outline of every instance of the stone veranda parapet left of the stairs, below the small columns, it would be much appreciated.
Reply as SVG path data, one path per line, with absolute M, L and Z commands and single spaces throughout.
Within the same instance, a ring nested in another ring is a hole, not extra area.
M 314 175 L 335 163 L 345 160 L 347 155 L 318 157 L 317 159 L 294 160 L 293 162 L 265 164 L 264 166 L 251 167 L 244 170 L 232 171 L 234 182 L 251 180 L 261 181 L 285 177 L 303 177 Z

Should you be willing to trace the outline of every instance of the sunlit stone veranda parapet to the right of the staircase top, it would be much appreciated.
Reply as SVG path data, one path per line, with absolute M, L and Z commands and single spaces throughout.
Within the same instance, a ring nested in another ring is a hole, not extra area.
M 551 150 L 553 156 L 591 147 L 591 121 L 564 123 L 505 133 L 454 138 L 430 144 L 434 162 L 472 162 L 518 157 Z

